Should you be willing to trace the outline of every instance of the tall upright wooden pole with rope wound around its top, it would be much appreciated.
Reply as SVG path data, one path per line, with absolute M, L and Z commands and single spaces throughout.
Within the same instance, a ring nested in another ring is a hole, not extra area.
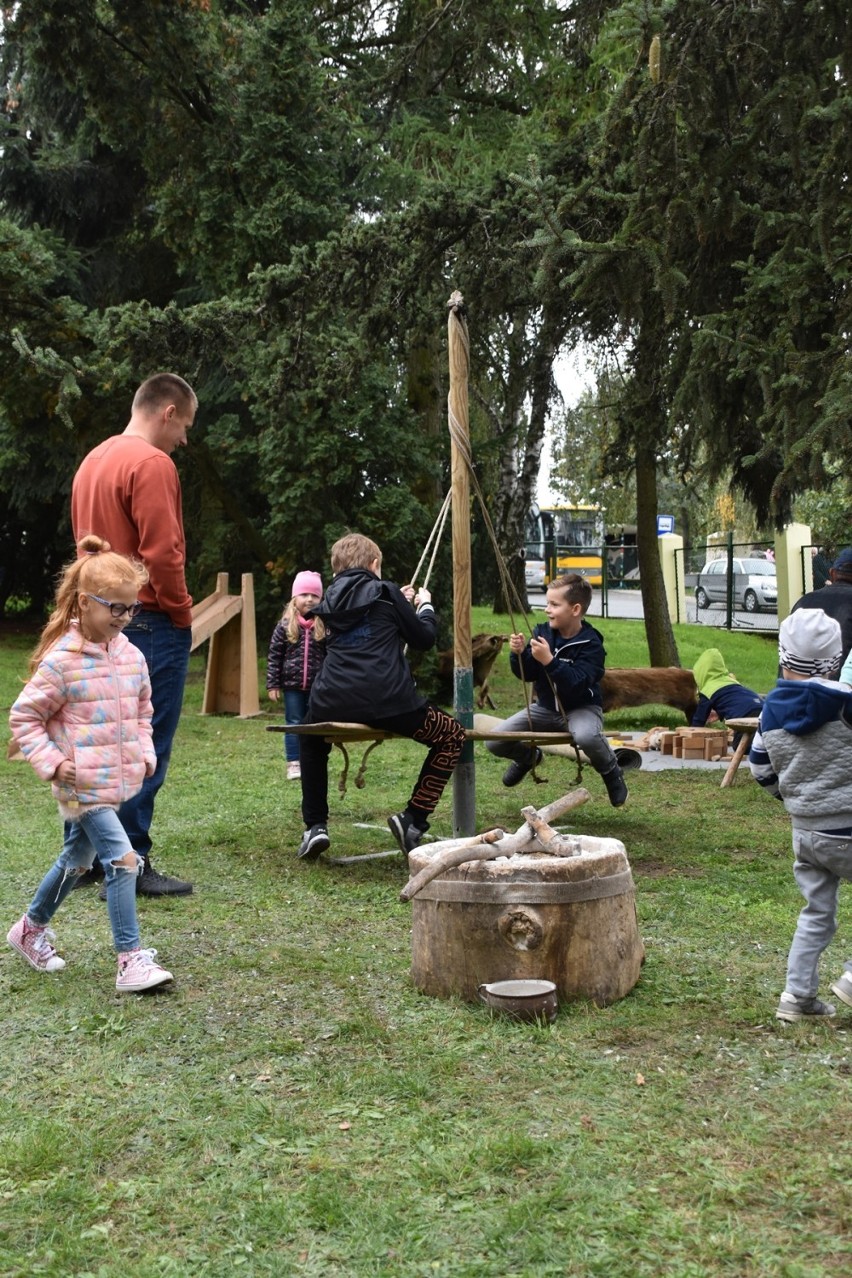
M 455 291 L 448 303 L 450 394 L 447 417 L 452 475 L 452 624 L 453 709 L 459 722 L 474 725 L 474 672 L 470 635 L 470 429 L 468 420 L 468 373 L 470 340 L 465 300 Z M 475 833 L 476 781 L 474 746 L 468 741 L 452 780 L 452 828 L 456 836 Z

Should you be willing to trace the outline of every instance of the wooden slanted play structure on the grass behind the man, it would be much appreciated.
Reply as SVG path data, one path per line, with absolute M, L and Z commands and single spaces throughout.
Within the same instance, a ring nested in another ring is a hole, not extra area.
M 216 589 L 193 607 L 194 652 L 209 639 L 202 714 L 261 713 L 257 675 L 254 579 L 244 573 L 240 593 L 229 594 L 227 573 L 218 573 Z

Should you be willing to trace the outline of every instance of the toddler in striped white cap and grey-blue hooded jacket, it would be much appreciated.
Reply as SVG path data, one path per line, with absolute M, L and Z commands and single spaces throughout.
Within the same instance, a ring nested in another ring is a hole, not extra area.
M 841 879 L 852 879 L 852 693 L 833 682 L 843 659 L 839 622 L 801 608 L 780 625 L 782 677 L 760 713 L 749 754 L 755 780 L 782 799 L 793 827 L 793 874 L 805 897 L 775 1016 L 834 1016 L 816 997 L 819 961 L 837 932 Z M 852 960 L 832 985 L 852 1007 Z

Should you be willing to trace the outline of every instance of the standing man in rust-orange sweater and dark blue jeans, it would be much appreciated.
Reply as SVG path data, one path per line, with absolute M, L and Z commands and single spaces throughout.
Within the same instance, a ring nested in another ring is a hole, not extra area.
M 153 801 L 166 778 L 192 642 L 192 597 L 184 574 L 180 479 L 171 454 L 186 443 L 198 399 L 175 373 L 155 373 L 135 392 L 130 420 L 83 458 L 72 488 L 74 538 L 97 533 L 114 551 L 141 558 L 148 584 L 142 612 L 125 635 L 144 654 L 151 676 L 157 769 L 119 809 L 133 849 L 144 858 L 137 879 L 143 896 L 184 896 L 192 883 L 160 874 L 151 864 Z

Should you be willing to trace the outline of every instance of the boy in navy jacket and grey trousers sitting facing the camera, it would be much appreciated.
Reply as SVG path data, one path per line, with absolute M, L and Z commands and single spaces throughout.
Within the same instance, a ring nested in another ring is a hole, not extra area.
M 627 799 L 627 786 L 612 746 L 603 735 L 600 680 L 607 652 L 600 634 L 584 620 L 591 587 L 579 573 L 566 573 L 547 590 L 547 624 L 535 626 L 528 644 L 510 638 L 510 666 L 517 679 L 535 685 L 536 700 L 499 723 L 497 732 L 571 734 L 577 749 L 599 772 L 613 808 Z M 524 741 L 488 741 L 492 754 L 512 759 L 505 786 L 516 786 L 540 760 L 542 751 Z

